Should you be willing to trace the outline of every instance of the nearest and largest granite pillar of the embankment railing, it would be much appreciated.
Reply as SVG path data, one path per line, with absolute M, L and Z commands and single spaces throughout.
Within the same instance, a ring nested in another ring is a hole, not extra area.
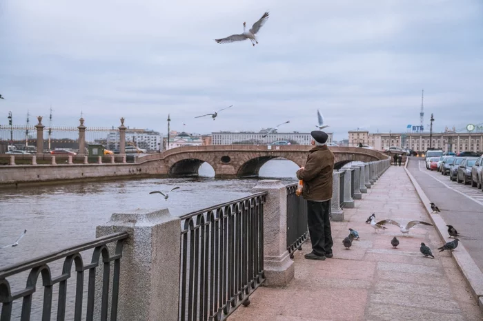
M 180 225 L 168 209 L 137 209 L 112 214 L 97 227 L 97 238 L 120 231 L 130 234 L 122 249 L 117 320 L 178 320 Z M 102 293 L 101 282 L 96 282 L 95 292 Z M 101 320 L 100 314 L 96 306 L 94 320 Z

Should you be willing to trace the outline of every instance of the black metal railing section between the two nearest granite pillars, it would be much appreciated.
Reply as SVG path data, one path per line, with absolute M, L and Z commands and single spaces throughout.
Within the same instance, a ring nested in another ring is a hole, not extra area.
M 181 216 L 179 320 L 225 320 L 264 277 L 266 192 Z

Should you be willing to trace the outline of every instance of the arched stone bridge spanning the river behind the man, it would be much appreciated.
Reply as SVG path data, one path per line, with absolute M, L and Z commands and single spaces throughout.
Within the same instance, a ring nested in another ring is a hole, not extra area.
M 335 155 L 335 168 L 351 161 L 379 161 L 387 159 L 386 154 L 373 149 L 359 147 L 329 147 Z M 197 175 L 199 166 L 206 162 L 215 170 L 216 177 L 257 176 L 260 167 L 273 158 L 286 158 L 300 167 L 304 166 L 307 145 L 206 145 L 186 146 L 169 149 L 161 154 L 137 158 L 136 163 L 149 165 L 159 162 L 162 172 L 169 176 Z

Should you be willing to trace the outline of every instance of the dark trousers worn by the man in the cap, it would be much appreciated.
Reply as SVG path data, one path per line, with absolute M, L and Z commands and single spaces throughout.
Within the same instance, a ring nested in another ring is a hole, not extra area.
M 332 253 L 331 221 L 329 220 L 329 209 L 331 201 L 314 202 L 307 200 L 307 221 L 308 233 L 311 235 L 312 250 L 318 256 Z

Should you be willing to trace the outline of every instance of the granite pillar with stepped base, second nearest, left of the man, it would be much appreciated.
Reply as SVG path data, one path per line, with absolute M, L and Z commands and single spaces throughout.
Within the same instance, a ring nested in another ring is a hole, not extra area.
M 280 180 L 259 180 L 254 192 L 267 191 L 264 204 L 264 271 L 266 287 L 284 287 L 295 266 L 287 251 L 287 191 Z

